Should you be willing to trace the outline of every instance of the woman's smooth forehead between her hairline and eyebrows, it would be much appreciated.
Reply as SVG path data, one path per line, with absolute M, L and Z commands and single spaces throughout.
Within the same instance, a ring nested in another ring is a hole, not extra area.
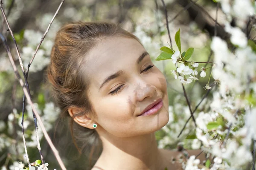
M 91 83 L 99 87 L 110 74 L 135 67 L 144 51 L 140 42 L 133 38 L 107 37 L 88 53 L 85 72 L 89 74 Z

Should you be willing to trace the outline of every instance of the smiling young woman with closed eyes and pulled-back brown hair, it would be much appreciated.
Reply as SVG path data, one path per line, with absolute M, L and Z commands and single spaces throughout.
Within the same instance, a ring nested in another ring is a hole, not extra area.
M 154 134 L 169 121 L 166 79 L 133 34 L 113 23 L 67 24 L 47 73 L 76 146 L 102 146 L 90 169 L 181 169 L 172 163 L 179 152 L 157 148 Z

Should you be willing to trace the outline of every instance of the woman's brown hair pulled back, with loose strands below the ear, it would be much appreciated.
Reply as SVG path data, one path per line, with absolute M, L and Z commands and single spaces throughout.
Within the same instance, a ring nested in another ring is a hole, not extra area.
M 68 108 L 71 107 L 80 110 L 70 119 L 70 132 L 80 156 L 85 145 L 91 144 L 90 162 L 93 150 L 99 149 L 102 144 L 95 129 L 82 127 L 73 121 L 74 117 L 87 113 L 96 116 L 87 95 L 90 79 L 88 75 L 82 73 L 83 70 L 80 67 L 86 65 L 88 51 L 95 47 L 101 38 L 110 36 L 138 40 L 136 36 L 114 23 L 79 21 L 64 25 L 55 37 L 51 61 L 47 68 L 53 97 L 61 109 L 60 116 L 70 117 Z M 79 147 L 80 144 L 81 147 Z

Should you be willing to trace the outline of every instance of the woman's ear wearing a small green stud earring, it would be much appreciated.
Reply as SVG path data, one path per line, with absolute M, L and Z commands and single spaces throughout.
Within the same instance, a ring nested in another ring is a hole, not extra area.
M 79 113 L 79 111 L 81 111 L 81 109 L 78 109 L 78 108 L 75 108 L 75 107 L 68 109 L 68 113 L 70 114 L 71 117 L 73 117 L 74 115 Z M 94 129 L 93 124 L 96 123 L 93 119 L 90 118 L 89 114 L 84 114 L 84 115 L 81 115 L 81 116 L 75 116 L 73 118 L 73 120 L 77 124 L 79 124 L 83 127 L 87 127 L 89 129 Z

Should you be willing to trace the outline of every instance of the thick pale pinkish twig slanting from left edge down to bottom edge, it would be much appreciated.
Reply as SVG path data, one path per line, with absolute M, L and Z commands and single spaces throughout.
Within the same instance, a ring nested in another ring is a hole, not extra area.
M 58 150 L 57 150 L 57 149 L 55 148 L 55 146 L 53 145 L 53 143 L 52 143 L 52 141 L 51 141 L 51 139 L 50 139 L 50 137 L 49 137 L 49 135 L 48 135 L 48 133 L 47 133 L 45 127 L 44 127 L 44 124 L 43 124 L 43 122 L 42 122 L 42 119 L 41 119 L 41 117 L 39 116 L 38 111 L 35 109 L 35 106 L 34 106 L 32 100 L 31 100 L 31 97 L 29 96 L 29 93 L 28 93 L 28 91 L 27 91 L 27 89 L 26 89 L 26 86 L 25 86 L 24 82 L 22 81 L 22 79 L 21 79 L 21 77 L 20 77 L 20 74 L 19 74 L 19 72 L 18 72 L 18 70 L 17 70 L 17 67 L 16 67 L 16 65 L 15 65 L 15 62 L 14 62 L 14 60 L 13 60 L 13 57 L 12 57 L 11 51 L 10 51 L 10 49 L 9 49 L 9 46 L 7 45 L 6 39 L 5 39 L 5 37 L 3 37 L 2 34 L 0 34 L 0 38 L 2 39 L 3 44 L 4 44 L 4 47 L 5 47 L 5 49 L 6 49 L 6 52 L 7 52 L 8 56 L 9 56 L 9 59 L 10 59 L 10 62 L 11 62 L 11 64 L 12 64 L 12 68 L 13 68 L 13 70 L 14 70 L 14 72 L 15 72 L 16 78 L 18 79 L 18 81 L 19 81 L 19 83 L 20 83 L 20 85 L 21 85 L 21 87 L 22 87 L 22 90 L 23 90 L 23 92 L 24 92 L 24 94 L 25 94 L 25 96 L 26 96 L 26 99 L 27 99 L 29 105 L 31 105 L 32 111 L 35 113 L 35 116 L 36 116 L 37 119 L 38 119 L 39 125 L 40 125 L 41 128 L 42 128 L 42 131 L 43 131 L 43 133 L 44 133 L 45 139 L 46 139 L 47 142 L 49 143 L 49 145 L 50 145 L 50 147 L 51 147 L 51 149 L 52 149 L 52 152 L 54 153 L 54 155 L 55 155 L 55 157 L 56 157 L 58 163 L 59 163 L 60 166 L 61 166 L 61 169 L 62 169 L 62 170 L 66 170 L 66 168 L 65 168 L 65 166 L 64 166 L 64 164 L 63 164 L 63 162 L 62 162 L 62 160 L 61 160 L 61 158 L 60 158 L 60 156 L 58 155 Z

